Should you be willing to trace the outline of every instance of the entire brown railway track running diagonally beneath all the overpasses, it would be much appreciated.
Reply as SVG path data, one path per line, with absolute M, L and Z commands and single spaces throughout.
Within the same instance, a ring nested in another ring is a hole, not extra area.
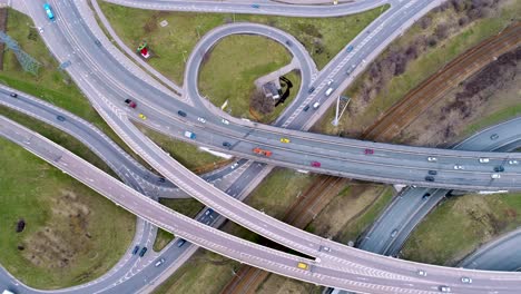
M 518 47 L 520 41 L 521 23 L 517 22 L 498 36 L 466 50 L 393 105 L 382 115 L 381 119 L 364 131 L 362 138 L 392 139 L 450 89 L 492 62 L 498 56 Z M 295 227 L 304 228 L 347 183 L 346 178 L 321 176 L 303 196 L 287 208 L 283 220 Z M 220 293 L 253 294 L 268 274 L 256 267 L 243 265 Z

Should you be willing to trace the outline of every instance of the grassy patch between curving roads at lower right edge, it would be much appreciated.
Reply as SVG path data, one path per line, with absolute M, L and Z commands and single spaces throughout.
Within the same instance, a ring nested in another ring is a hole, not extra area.
M 453 266 L 481 244 L 521 225 L 520 215 L 519 193 L 451 198 L 412 233 L 403 257 Z

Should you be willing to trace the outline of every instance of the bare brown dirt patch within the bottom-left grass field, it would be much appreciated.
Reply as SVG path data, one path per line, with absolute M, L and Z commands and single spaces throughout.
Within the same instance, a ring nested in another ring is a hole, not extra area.
M 80 253 L 90 251 L 88 206 L 69 190 L 59 193 L 61 196 L 53 200 L 48 225 L 23 242 L 23 256 L 40 267 L 65 268 Z

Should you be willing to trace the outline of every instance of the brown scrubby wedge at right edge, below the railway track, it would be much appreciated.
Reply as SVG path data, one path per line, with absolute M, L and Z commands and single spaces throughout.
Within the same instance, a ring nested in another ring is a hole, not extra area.
M 520 70 L 520 48 L 500 56 L 405 128 L 400 143 L 450 146 L 484 127 L 519 116 Z

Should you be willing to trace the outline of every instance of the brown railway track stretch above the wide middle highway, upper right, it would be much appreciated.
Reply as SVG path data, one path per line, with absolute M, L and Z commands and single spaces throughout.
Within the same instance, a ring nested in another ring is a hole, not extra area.
M 466 50 L 442 70 L 432 75 L 420 86 L 394 104 L 362 135 L 363 139 L 391 141 L 403 128 L 439 101 L 460 82 L 474 75 L 499 56 L 521 45 L 521 22 L 504 29 Z

